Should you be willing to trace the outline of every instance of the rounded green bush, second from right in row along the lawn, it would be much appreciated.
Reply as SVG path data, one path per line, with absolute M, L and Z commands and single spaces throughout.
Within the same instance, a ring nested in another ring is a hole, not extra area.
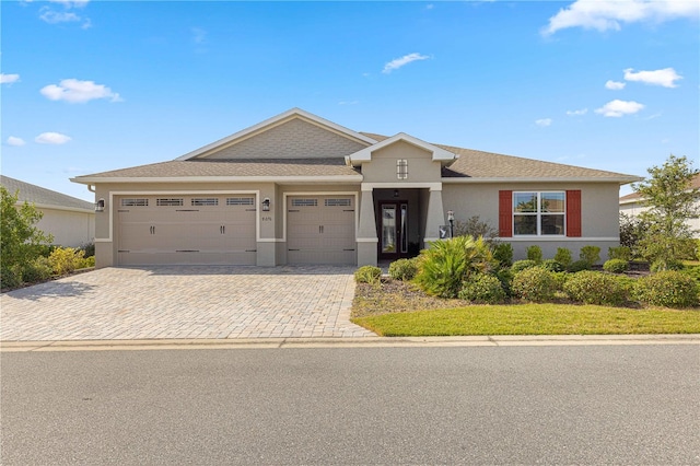
M 585 304 L 618 306 L 630 293 L 628 281 L 609 273 L 584 270 L 572 275 L 563 290 L 574 301 Z

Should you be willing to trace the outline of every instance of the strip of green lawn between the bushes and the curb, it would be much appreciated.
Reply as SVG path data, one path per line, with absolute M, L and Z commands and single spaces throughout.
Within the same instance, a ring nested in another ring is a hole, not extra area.
M 700 310 L 571 304 L 470 305 L 352 318 L 386 337 L 700 334 Z

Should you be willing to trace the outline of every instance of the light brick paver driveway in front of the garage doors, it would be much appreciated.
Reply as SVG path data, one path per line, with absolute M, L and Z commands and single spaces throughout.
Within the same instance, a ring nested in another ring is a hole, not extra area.
M 349 267 L 104 268 L 0 298 L 0 340 L 374 336 Z

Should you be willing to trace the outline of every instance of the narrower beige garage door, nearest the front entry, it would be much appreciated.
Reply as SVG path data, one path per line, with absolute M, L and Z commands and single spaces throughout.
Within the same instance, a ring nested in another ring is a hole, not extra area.
M 290 196 L 289 264 L 357 264 L 354 196 Z

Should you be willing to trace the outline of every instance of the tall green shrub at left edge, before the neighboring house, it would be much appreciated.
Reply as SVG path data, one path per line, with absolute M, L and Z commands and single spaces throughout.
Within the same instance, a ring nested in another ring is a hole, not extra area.
M 40 254 L 40 245 L 54 238 L 34 226 L 43 213 L 33 205 L 24 202 L 15 206 L 19 191 L 10 194 L 0 186 L 0 268 L 2 286 L 21 284 L 22 269 Z

